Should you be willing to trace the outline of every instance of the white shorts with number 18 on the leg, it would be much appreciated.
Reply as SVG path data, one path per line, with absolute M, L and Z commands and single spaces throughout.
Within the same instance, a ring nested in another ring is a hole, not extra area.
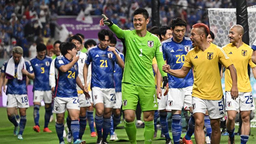
M 15 94 L 8 94 L 7 95 L 7 108 L 28 108 L 29 101 L 28 95 L 15 95 Z

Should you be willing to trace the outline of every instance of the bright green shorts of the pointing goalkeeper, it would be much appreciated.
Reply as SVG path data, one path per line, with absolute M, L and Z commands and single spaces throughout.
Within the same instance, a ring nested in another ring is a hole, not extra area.
M 136 110 L 138 100 L 142 111 L 158 110 L 155 87 L 122 83 L 123 110 Z

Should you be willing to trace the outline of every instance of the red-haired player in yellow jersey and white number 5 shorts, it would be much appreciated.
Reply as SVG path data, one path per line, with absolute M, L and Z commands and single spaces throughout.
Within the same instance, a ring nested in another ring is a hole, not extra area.
M 167 73 L 177 78 L 184 78 L 193 66 L 192 110 L 195 117 L 195 139 L 197 144 L 204 144 L 205 142 L 203 125 L 206 110 L 208 110 L 211 120 L 211 143 L 219 144 L 221 140 L 219 119 L 225 116 L 225 104 L 218 63 L 230 70 L 232 78 L 231 97 L 238 96 L 236 69 L 220 47 L 207 42 L 208 34 L 209 28 L 207 25 L 203 23 L 193 25 L 190 39 L 192 46 L 195 48 L 187 53 L 182 68 L 173 70 L 167 64 L 162 67 Z

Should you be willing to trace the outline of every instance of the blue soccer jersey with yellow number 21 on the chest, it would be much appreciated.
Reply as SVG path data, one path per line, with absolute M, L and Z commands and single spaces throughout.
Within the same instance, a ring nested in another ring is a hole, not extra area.
M 108 48 L 103 50 L 99 46 L 95 46 L 87 51 L 86 64 L 91 63 L 91 88 L 115 88 L 114 66 L 117 59 L 113 52 L 108 51 Z

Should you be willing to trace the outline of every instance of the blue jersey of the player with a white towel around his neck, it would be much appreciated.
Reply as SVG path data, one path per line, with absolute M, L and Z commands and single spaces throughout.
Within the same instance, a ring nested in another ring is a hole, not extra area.
M 8 61 L 5 61 L 3 63 L 3 67 L 1 69 L 1 73 L 5 73 L 6 71 L 6 66 L 7 66 Z M 33 73 L 33 68 L 28 60 L 25 60 L 25 65 L 26 69 L 29 73 Z M 17 66 L 18 64 L 15 63 L 15 76 L 12 79 L 8 79 L 7 83 L 7 90 L 6 94 L 16 94 L 16 95 L 24 95 L 28 94 L 27 92 L 27 85 L 26 85 L 26 75 L 22 75 L 23 79 L 18 80 L 17 78 Z

